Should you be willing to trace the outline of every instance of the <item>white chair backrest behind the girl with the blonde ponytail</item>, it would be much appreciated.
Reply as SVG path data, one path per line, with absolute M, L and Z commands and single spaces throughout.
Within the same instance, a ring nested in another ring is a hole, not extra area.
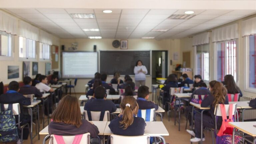
M 120 135 L 111 135 L 110 144 L 149 144 L 150 137 L 149 135 L 143 136 L 120 136 Z

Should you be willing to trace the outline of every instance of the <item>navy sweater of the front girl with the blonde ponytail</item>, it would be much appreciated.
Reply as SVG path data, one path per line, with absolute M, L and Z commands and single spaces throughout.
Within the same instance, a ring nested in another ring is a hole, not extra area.
M 108 125 L 113 134 L 122 136 L 144 135 L 146 123 L 143 118 L 134 116 L 133 123 L 130 126 L 128 126 L 127 129 L 123 129 L 123 127 L 120 127 L 120 121 L 122 121 L 122 117 L 117 117 L 113 119 Z

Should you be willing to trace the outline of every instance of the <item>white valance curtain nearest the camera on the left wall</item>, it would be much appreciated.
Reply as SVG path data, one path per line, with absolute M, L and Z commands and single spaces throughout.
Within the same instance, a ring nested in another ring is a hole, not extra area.
M 7 13 L 0 11 L 0 31 L 16 35 L 17 28 L 18 20 Z

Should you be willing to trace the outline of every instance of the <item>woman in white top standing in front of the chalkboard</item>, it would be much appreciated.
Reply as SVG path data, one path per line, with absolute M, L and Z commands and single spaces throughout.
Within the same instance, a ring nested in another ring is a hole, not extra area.
M 135 74 L 135 85 L 136 87 L 140 87 L 141 85 L 144 86 L 146 83 L 146 74 L 148 73 L 147 68 L 142 64 L 141 60 L 136 62 L 134 67 L 134 74 Z

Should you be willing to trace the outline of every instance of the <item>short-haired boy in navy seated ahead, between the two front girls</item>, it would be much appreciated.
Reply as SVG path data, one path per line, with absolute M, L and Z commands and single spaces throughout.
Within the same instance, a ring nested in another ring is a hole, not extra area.
M 95 88 L 93 97 L 84 105 L 84 110 L 87 111 L 116 111 L 116 106 L 111 100 L 106 100 L 106 89 L 103 86 Z

